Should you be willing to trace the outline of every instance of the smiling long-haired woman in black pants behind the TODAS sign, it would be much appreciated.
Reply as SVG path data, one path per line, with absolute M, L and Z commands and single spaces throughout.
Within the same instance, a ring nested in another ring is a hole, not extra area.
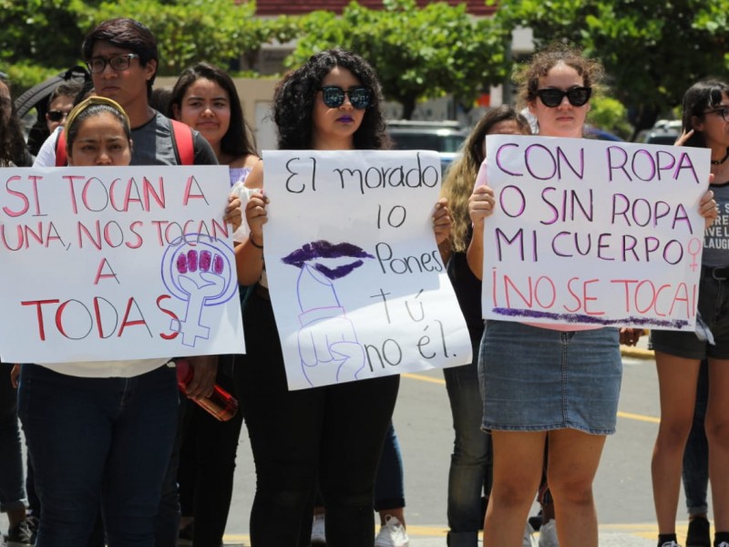
M 198 63 L 186 68 L 169 98 L 169 116 L 200 131 L 210 143 L 221 165 L 227 165 L 231 187 L 245 203 L 246 211 L 256 220 L 243 231 L 234 234 L 238 267 L 259 265 L 258 249 L 251 243 L 261 241 L 265 221 L 265 198 L 260 192 L 243 191 L 244 184 L 260 186 L 263 164 L 256 154 L 250 131 L 243 119 L 241 99 L 231 77 L 221 68 Z M 250 237 L 249 237 L 250 236 Z M 253 257 L 245 253 L 255 254 Z M 260 274 L 260 270 L 257 271 Z M 241 293 L 242 294 L 242 293 Z M 235 395 L 232 369 L 236 356 L 221 356 L 216 382 Z M 199 545 L 220 545 L 228 520 L 233 487 L 233 471 L 241 433 L 239 413 L 221 422 L 187 401 L 182 422 L 183 445 L 180 450 L 180 537 L 192 535 Z

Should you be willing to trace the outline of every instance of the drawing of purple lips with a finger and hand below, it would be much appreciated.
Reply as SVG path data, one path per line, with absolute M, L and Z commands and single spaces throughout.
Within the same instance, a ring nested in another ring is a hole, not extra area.
M 303 375 L 313 387 L 355 380 L 364 369 L 364 348 L 333 282 L 352 273 L 365 258 L 375 257 L 352 243 L 326 241 L 306 243 L 282 258 L 301 269 L 296 282 L 299 356 Z

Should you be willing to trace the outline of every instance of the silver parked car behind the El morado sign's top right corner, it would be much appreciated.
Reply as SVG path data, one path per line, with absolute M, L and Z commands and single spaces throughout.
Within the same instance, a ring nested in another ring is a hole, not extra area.
M 436 150 L 444 174 L 468 136 L 457 121 L 395 119 L 387 122 L 387 132 L 395 150 Z

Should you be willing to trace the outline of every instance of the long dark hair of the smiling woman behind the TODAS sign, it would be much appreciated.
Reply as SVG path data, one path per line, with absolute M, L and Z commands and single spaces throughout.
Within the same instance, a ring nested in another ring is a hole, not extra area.
M 235 84 L 227 72 L 210 65 L 210 63 L 198 63 L 182 71 L 169 97 L 167 112 L 169 118 L 174 118 L 175 107 L 182 109 L 182 99 L 185 97 L 185 93 L 200 78 L 218 84 L 228 94 L 228 100 L 231 104 L 231 125 L 221 139 L 221 151 L 235 158 L 249 155 L 256 156 L 255 142 L 251 129 L 243 119 L 241 98 L 238 96 Z

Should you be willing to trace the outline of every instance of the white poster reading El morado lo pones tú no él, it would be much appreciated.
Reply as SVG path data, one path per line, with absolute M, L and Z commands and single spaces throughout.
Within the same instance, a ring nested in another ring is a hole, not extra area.
M 266 273 L 290 389 L 470 363 L 426 151 L 263 153 Z

